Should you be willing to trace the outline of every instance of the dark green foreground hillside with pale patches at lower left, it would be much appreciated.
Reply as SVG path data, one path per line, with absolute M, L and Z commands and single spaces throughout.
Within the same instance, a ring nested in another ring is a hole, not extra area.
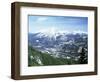
M 28 47 L 28 66 L 47 66 L 47 65 L 67 65 L 76 64 L 77 62 L 72 59 L 55 58 L 48 53 L 42 53 Z

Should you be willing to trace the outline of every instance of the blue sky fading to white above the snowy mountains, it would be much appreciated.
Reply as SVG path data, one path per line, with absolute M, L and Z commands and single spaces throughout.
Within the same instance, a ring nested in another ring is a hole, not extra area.
M 57 31 L 82 31 L 88 32 L 87 17 L 70 16 L 28 16 L 29 33 L 41 32 L 42 30 L 56 29 Z

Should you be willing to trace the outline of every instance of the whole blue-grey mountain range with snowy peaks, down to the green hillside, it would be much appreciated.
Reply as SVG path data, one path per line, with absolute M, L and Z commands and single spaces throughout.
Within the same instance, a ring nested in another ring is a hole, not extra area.
M 28 34 L 29 45 L 55 57 L 77 56 L 80 47 L 87 49 L 87 40 L 87 33 L 81 31 L 69 33 L 52 29 Z

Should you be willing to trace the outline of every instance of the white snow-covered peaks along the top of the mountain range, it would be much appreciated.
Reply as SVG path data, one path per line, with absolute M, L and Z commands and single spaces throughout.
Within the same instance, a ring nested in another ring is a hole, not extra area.
M 38 31 L 35 34 L 37 34 L 38 37 L 50 37 L 50 38 L 54 37 L 55 38 L 57 36 L 65 36 L 67 34 L 73 34 L 73 35 L 75 35 L 75 34 L 87 34 L 87 33 L 83 32 L 83 31 L 80 31 L 80 30 L 73 31 L 73 32 L 58 31 L 58 30 L 52 28 L 52 29 L 46 29 L 46 30 Z

